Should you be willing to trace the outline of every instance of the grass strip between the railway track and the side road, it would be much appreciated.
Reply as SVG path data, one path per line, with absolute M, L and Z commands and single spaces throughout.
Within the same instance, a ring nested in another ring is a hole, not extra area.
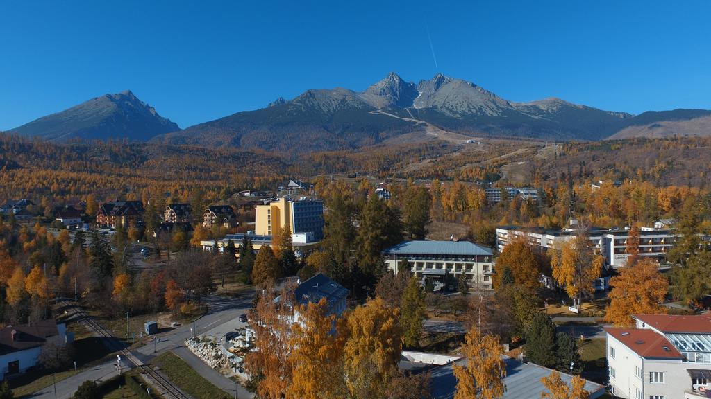
M 225 391 L 213 386 L 172 352 L 161 354 L 152 363 L 159 366 L 172 383 L 195 399 L 228 399 Z

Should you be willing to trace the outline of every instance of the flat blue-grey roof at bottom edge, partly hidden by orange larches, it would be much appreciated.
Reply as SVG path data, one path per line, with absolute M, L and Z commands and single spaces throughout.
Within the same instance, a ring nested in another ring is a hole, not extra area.
M 503 393 L 502 399 L 521 399 L 521 398 L 540 398 L 542 392 L 547 392 L 540 379 L 549 376 L 552 370 L 538 366 L 538 364 L 523 364 L 508 356 L 503 356 L 506 361 L 506 378 L 503 382 L 506 384 L 506 392 Z M 459 365 L 466 364 L 466 359 L 459 359 L 454 363 Z M 430 374 L 430 392 L 434 399 L 452 399 L 456 392 L 456 377 L 452 364 L 445 364 L 433 368 Z M 565 373 L 560 373 L 560 378 L 566 383 L 570 383 L 572 377 Z M 585 390 L 590 393 L 589 398 L 598 398 L 605 392 L 605 387 L 587 381 Z

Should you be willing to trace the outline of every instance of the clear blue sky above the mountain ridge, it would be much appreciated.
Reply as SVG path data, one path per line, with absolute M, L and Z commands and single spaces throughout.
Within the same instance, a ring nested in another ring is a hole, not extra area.
M 512 101 L 711 109 L 710 18 L 707 0 L 0 0 L 0 130 L 125 89 L 184 128 L 390 71 Z

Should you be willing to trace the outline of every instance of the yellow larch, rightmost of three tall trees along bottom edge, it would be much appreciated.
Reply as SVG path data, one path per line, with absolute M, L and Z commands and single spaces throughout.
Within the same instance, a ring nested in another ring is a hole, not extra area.
M 387 307 L 380 298 L 368 300 L 348 315 L 350 335 L 343 366 L 351 398 L 385 398 L 400 359 L 399 317 L 400 310 Z

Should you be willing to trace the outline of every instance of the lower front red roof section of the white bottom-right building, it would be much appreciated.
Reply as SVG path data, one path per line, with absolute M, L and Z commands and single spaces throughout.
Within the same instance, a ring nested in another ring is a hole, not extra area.
M 606 328 L 605 332 L 643 358 L 683 359 L 666 337 L 651 329 Z

